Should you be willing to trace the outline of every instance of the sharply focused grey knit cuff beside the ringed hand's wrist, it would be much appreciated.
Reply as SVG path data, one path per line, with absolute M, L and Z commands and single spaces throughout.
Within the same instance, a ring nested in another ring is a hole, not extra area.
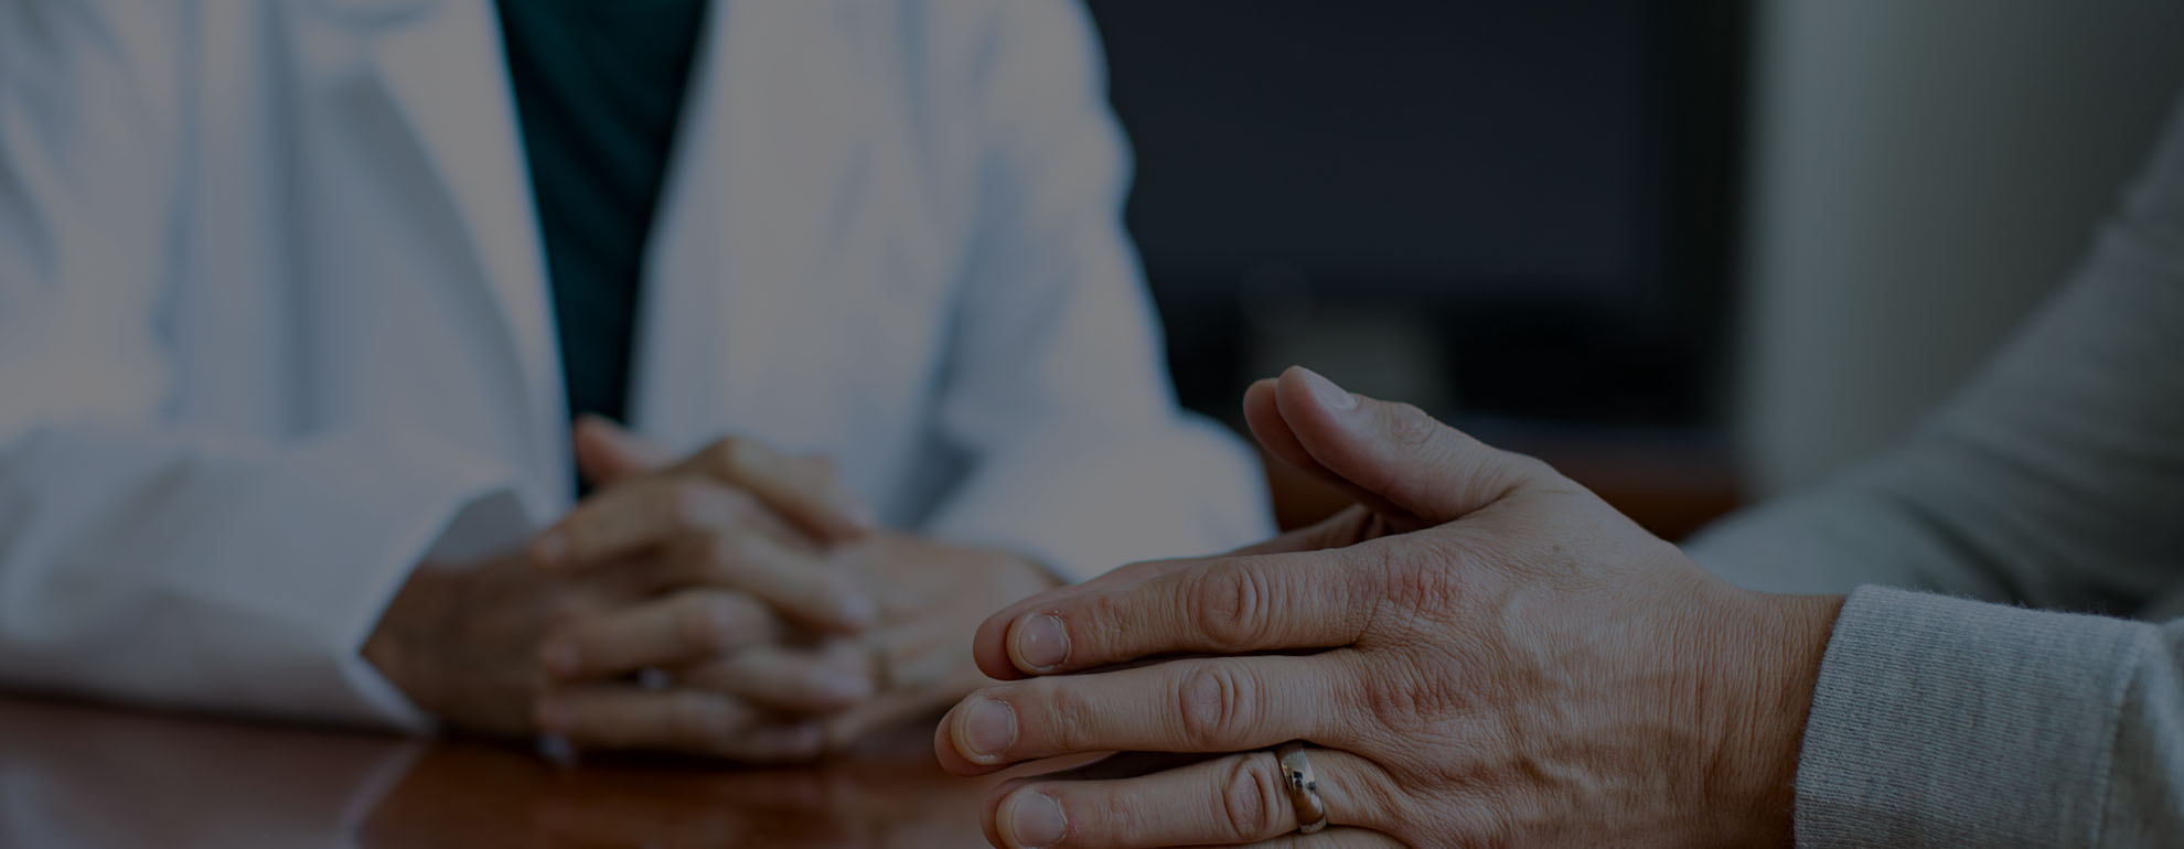
M 1806 720 L 1797 845 L 2094 845 L 2138 629 L 1861 587 Z

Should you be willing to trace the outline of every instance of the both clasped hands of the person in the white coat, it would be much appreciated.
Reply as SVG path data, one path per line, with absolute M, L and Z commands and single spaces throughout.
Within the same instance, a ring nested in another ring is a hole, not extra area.
M 878 530 L 823 458 L 725 439 L 666 463 L 598 419 L 577 458 L 592 498 L 522 552 L 419 570 L 367 644 L 452 725 L 808 760 L 972 690 L 965 626 L 941 624 L 1051 585 L 1016 557 Z

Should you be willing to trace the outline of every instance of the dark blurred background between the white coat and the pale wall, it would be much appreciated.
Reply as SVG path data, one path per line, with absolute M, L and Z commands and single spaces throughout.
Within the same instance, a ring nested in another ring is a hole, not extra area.
M 1184 404 L 1291 362 L 1679 535 L 1736 502 L 1736 0 L 1092 0 Z M 1337 506 L 1275 474 L 1284 524 Z

